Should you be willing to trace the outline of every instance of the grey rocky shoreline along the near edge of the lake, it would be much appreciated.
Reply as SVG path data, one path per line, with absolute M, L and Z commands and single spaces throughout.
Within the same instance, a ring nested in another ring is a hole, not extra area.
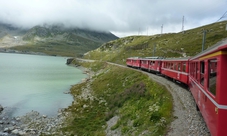
M 6 52 L 5 52 L 6 53 Z M 32 54 L 37 55 L 37 54 Z M 75 67 L 79 69 L 83 74 L 90 74 L 91 72 L 87 72 L 88 69 L 82 66 L 76 66 L 70 64 L 69 66 Z M 82 78 L 80 82 L 76 84 L 80 84 L 81 82 L 85 82 L 87 80 Z M 73 84 L 75 85 L 75 84 Z M 72 88 L 72 86 L 70 87 Z M 70 93 L 67 92 L 67 94 Z M 64 92 L 62 93 L 63 95 Z M 70 93 L 70 95 L 72 95 Z M 72 100 L 72 103 L 75 100 Z M 70 104 L 71 105 L 71 104 Z M 68 105 L 68 106 L 70 106 Z M 67 112 L 65 112 L 66 108 L 59 108 L 56 115 L 47 116 L 42 115 L 39 112 L 32 110 L 31 112 L 27 112 L 22 116 L 14 117 L 9 113 L 12 113 L 13 108 L 4 107 L 4 110 L 0 112 L 0 136 L 7 135 L 40 135 L 40 134 L 55 134 L 58 129 L 63 126 L 64 120 L 69 116 Z M 60 133 L 60 132 L 59 132 Z

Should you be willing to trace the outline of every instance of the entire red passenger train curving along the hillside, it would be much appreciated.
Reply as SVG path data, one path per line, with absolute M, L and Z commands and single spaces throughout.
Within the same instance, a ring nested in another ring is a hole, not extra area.
M 227 136 L 227 39 L 191 58 L 128 58 L 127 66 L 186 84 L 212 136 Z

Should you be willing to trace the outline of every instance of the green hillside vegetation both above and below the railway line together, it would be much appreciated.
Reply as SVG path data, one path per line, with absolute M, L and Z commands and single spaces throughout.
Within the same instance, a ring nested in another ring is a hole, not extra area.
M 99 61 L 80 65 L 96 74 L 87 82 L 72 87 L 75 102 L 67 110 L 71 118 L 63 131 L 97 136 L 106 135 L 107 131 L 118 135 L 165 135 L 173 120 L 172 97 L 166 88 L 141 72 L 103 62 L 125 65 L 126 58 L 132 56 L 194 56 L 201 52 L 203 31 L 207 31 L 206 49 L 227 37 L 226 23 L 180 33 L 129 36 L 86 53 L 84 58 Z M 112 125 L 108 123 L 110 120 L 114 122 Z

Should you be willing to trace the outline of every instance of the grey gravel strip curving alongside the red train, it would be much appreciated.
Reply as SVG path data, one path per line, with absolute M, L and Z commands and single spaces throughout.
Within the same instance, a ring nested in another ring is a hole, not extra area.
M 190 91 L 161 76 L 148 75 L 164 85 L 173 96 L 175 120 L 171 123 L 168 136 L 210 136 L 202 115 L 196 110 Z

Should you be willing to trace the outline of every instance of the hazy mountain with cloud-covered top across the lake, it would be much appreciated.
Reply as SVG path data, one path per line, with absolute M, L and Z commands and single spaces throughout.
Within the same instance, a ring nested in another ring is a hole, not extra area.
M 110 32 L 66 28 L 63 25 L 43 25 L 21 29 L 0 24 L 0 48 L 22 52 L 79 56 L 115 39 L 118 37 Z

